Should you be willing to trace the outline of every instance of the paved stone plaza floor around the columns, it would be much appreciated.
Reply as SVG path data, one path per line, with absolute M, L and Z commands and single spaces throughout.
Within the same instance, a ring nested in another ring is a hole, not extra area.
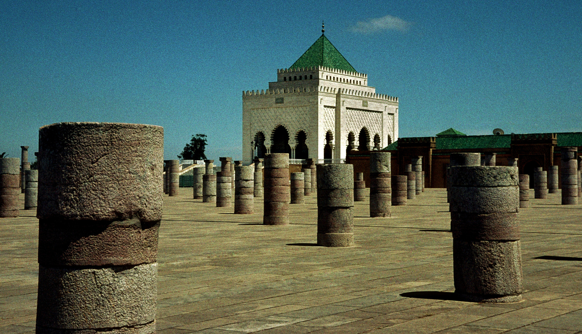
M 290 205 L 288 226 L 164 196 L 158 333 L 582 332 L 582 205 L 560 193 L 520 209 L 524 301 L 455 300 L 444 189 L 426 189 L 391 218 L 354 202 L 354 247 L 318 247 L 314 194 Z M 24 194 L 20 195 L 24 207 Z M 34 332 L 38 219 L 0 219 L 0 333 Z

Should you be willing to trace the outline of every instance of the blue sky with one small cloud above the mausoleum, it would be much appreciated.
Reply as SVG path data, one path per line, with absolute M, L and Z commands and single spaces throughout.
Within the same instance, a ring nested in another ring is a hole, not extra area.
M 242 91 L 267 88 L 325 34 L 400 137 L 582 131 L 579 1 L 0 1 L 0 151 L 55 122 L 164 126 L 242 157 Z M 33 154 L 30 154 L 31 157 Z

